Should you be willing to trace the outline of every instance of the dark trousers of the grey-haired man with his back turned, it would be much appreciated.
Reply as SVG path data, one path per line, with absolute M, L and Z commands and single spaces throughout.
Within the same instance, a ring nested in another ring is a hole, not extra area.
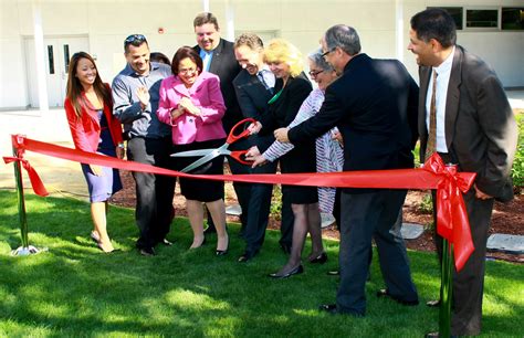
M 398 231 L 406 194 L 406 190 L 386 189 L 367 193 L 342 192 L 340 285 L 336 297 L 339 311 L 366 313 L 365 287 L 371 239 L 377 244 L 380 271 L 389 294 L 401 300 L 418 300 L 406 245 Z

